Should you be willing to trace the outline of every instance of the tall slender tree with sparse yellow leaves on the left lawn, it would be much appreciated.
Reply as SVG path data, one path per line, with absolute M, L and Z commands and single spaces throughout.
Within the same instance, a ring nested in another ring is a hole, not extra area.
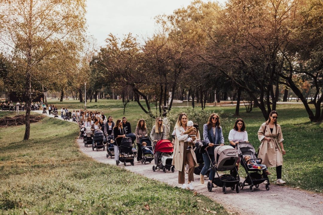
M 38 73 L 36 68 L 64 49 L 73 48 L 75 54 L 81 50 L 86 5 L 84 0 L 0 0 L 0 5 L 0 41 L 11 50 L 6 53 L 24 81 L 20 90 L 26 93 L 24 140 L 28 140 L 33 83 L 53 77 L 50 71 Z M 71 45 L 62 47 L 60 43 Z

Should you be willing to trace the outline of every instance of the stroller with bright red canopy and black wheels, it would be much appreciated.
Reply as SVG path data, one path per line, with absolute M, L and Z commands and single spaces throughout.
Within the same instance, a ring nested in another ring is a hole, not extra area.
M 152 166 L 152 171 L 156 171 L 157 168 L 162 169 L 166 173 L 168 171 L 175 171 L 175 167 L 172 165 L 173 156 L 170 153 L 174 151 L 173 144 L 169 140 L 160 140 L 154 145 L 154 157 L 155 165 Z M 162 153 L 167 153 L 169 156 L 162 156 Z

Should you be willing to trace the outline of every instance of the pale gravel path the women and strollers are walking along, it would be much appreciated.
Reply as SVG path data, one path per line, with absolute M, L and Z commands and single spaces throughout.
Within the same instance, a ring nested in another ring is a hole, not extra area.
M 47 115 L 48 116 L 48 115 Z M 51 116 L 53 117 L 53 116 Z M 60 119 L 60 116 L 59 116 Z M 70 121 L 71 122 L 71 121 Z M 116 165 L 114 159 L 106 157 L 107 151 L 100 149 L 92 151 L 91 147 L 84 147 L 83 140 L 77 139 L 76 142 L 80 151 L 87 154 L 94 160 L 102 163 Z M 138 173 L 145 177 L 168 183 L 171 186 L 179 186 L 178 171 L 174 173 L 162 170 L 152 171 L 151 164 L 141 164 L 136 161 L 131 166 L 127 163 L 124 166 L 119 164 L 120 168 L 125 168 L 132 172 Z M 187 177 L 186 177 L 187 180 Z M 241 177 L 241 180 L 242 177 Z M 207 180 L 205 180 L 207 182 Z M 249 215 L 322 215 L 323 214 L 323 195 L 290 188 L 287 186 L 278 186 L 271 184 L 270 190 L 266 191 L 265 185 L 260 184 L 259 188 L 255 188 L 254 192 L 249 191 L 249 187 L 245 187 L 240 193 L 227 189 L 227 194 L 222 193 L 222 188 L 213 188 L 212 192 L 207 191 L 207 183 L 201 184 L 198 175 L 194 174 L 194 188 L 200 194 L 208 196 L 221 203 L 228 211 L 235 214 Z

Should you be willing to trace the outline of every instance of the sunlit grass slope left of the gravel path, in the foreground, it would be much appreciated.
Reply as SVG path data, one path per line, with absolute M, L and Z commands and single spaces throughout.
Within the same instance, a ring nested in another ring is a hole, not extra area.
M 78 150 L 76 124 L 45 118 L 28 141 L 24 131 L 0 128 L 0 214 L 227 214 L 205 196 L 93 161 Z

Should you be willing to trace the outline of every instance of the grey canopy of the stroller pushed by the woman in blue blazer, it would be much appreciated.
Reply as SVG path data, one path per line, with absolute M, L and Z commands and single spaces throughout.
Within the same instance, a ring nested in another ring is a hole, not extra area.
M 238 152 L 232 146 L 218 146 L 214 149 L 218 171 L 232 170 L 238 161 Z

